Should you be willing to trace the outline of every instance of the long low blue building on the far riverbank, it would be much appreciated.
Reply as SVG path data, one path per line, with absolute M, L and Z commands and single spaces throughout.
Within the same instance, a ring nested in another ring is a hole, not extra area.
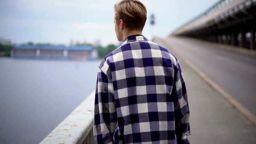
M 64 45 L 15 45 L 11 57 L 21 59 L 67 59 L 87 61 L 96 59 L 93 56 L 93 46 L 64 46 Z

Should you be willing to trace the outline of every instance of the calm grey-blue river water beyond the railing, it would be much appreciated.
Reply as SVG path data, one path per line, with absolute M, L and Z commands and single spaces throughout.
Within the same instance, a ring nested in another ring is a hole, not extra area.
M 0 58 L 0 144 L 37 144 L 95 89 L 100 61 Z

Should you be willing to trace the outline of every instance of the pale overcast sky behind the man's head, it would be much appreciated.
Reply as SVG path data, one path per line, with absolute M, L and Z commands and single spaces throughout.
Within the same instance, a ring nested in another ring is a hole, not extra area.
M 0 37 L 14 43 L 117 43 L 114 4 L 119 0 L 0 0 Z M 147 7 L 143 35 L 167 37 L 218 0 L 141 0 Z M 154 13 L 156 24 L 150 26 Z

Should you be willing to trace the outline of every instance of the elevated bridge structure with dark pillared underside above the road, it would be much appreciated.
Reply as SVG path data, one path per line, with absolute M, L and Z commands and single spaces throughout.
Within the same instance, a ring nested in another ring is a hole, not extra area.
M 255 31 L 256 0 L 220 0 L 171 35 L 256 50 Z

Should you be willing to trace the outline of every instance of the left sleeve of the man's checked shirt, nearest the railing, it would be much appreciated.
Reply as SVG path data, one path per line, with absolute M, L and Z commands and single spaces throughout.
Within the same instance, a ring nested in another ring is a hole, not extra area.
M 113 83 L 99 68 L 94 105 L 93 135 L 97 144 L 112 144 L 117 124 Z

